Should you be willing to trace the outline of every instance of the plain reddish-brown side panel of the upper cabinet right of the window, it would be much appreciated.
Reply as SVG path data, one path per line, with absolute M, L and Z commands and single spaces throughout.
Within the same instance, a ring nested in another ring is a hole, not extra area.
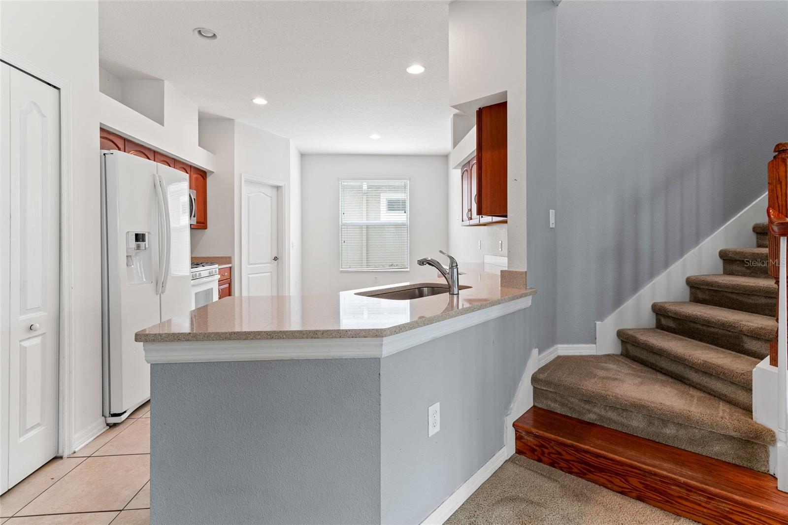
M 506 102 L 476 110 L 475 201 L 478 215 L 507 216 L 506 114 Z

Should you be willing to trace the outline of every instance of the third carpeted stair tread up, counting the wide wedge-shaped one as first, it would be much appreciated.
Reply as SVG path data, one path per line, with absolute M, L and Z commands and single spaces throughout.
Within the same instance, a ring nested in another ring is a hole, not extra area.
M 777 333 L 777 322 L 774 318 L 746 311 L 686 301 L 653 303 L 651 309 L 658 315 L 667 315 L 730 332 L 743 333 L 765 341 L 771 341 Z

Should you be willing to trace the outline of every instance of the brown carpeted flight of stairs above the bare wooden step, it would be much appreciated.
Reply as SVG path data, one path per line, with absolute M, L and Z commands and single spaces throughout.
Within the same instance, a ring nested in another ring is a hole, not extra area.
M 560 356 L 533 374 L 537 407 L 768 472 L 775 434 L 753 421 L 753 368 L 775 337 L 766 224 L 726 248 L 721 275 L 686 278 L 689 302 L 654 303 L 656 328 L 619 330 L 620 355 Z

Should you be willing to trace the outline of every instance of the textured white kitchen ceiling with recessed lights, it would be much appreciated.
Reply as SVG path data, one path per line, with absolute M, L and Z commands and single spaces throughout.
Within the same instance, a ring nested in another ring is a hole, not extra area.
M 218 38 L 197 38 L 197 27 Z M 168 80 L 201 114 L 286 136 L 303 153 L 451 147 L 448 2 L 99 2 L 99 30 L 111 73 Z M 426 73 L 406 73 L 414 62 Z

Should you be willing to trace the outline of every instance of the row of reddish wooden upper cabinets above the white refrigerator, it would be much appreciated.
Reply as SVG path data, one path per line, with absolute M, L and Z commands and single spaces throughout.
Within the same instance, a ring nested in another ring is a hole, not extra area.
M 191 225 L 192 229 L 208 228 L 208 173 L 204 169 L 191 166 L 177 158 L 164 155 L 161 151 L 138 144 L 104 128 L 99 128 L 99 143 L 102 150 L 117 150 L 147 158 L 164 166 L 178 169 L 189 176 L 189 188 L 195 190 L 197 199 L 197 223 Z

